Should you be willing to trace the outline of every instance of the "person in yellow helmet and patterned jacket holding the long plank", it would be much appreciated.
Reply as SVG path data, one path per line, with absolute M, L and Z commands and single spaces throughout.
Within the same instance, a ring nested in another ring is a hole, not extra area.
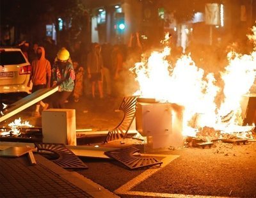
M 57 60 L 52 65 L 52 87 L 59 87 L 54 95 L 52 107 L 64 109 L 65 101 L 74 89 L 76 74 L 67 49 L 61 48 L 57 53 Z

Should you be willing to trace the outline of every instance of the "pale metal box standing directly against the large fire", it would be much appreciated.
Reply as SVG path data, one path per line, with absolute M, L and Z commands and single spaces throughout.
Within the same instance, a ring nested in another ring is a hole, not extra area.
M 184 146 L 182 111 L 173 103 L 137 103 L 136 129 L 153 149 Z

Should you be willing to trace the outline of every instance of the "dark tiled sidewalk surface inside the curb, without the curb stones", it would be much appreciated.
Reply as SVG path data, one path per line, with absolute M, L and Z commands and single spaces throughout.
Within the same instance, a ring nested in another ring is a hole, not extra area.
M 0 164 L 0 197 L 92 197 L 44 165 L 29 165 L 26 155 Z

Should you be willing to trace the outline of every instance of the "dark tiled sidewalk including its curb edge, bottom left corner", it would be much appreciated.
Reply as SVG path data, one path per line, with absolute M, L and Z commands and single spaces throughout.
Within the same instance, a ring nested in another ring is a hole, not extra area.
M 35 160 L 31 165 L 26 155 L 0 157 L 0 197 L 117 197 L 38 154 Z

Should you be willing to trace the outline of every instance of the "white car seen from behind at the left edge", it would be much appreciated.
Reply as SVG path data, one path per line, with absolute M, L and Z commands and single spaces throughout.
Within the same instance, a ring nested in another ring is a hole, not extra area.
M 0 94 L 31 93 L 31 65 L 20 49 L 0 48 Z

